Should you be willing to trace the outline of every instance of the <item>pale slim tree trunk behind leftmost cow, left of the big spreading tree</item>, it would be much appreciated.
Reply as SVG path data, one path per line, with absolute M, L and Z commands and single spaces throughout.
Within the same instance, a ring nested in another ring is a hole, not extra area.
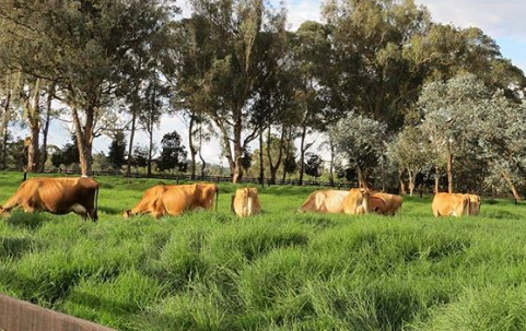
M 30 128 L 30 143 L 27 145 L 27 172 L 37 173 L 39 169 L 39 138 L 40 138 L 40 79 L 36 79 L 34 91 L 27 101 L 27 121 Z

